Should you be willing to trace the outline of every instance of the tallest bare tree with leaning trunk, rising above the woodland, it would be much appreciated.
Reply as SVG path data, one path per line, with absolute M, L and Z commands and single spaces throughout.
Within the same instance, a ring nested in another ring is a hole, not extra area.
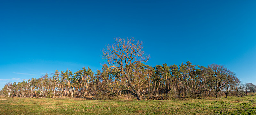
M 112 67 L 112 69 L 117 69 L 122 75 L 126 78 L 126 84 L 131 87 L 132 91 L 130 90 L 123 90 L 128 91 L 137 99 L 141 100 L 142 96 L 138 89 L 136 89 L 134 84 L 131 81 L 131 70 L 132 65 L 139 62 L 146 62 L 149 59 L 148 55 L 144 54 L 143 46 L 141 41 L 135 42 L 134 38 L 125 39 L 116 38 L 114 44 L 107 45 L 107 49 L 102 50 L 103 56 L 107 61 L 107 64 Z M 119 92 L 123 92 L 119 91 Z

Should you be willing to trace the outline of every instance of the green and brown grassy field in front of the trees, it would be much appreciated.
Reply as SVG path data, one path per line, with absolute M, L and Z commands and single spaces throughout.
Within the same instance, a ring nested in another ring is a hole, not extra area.
M 170 101 L 0 97 L 0 114 L 256 114 L 256 96 Z

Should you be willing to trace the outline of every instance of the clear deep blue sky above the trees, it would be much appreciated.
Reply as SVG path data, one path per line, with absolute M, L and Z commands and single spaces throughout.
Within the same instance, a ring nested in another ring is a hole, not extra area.
M 0 1 L 0 89 L 56 69 L 93 72 L 113 38 L 144 43 L 151 66 L 225 65 L 256 85 L 256 1 Z

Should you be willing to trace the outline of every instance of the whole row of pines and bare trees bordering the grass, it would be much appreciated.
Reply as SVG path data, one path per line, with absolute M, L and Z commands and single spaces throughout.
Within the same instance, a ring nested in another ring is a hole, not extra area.
M 8 97 L 38 98 L 100 98 L 113 95 L 142 99 L 151 95 L 168 98 L 202 98 L 254 93 L 252 83 L 244 84 L 236 74 L 223 65 L 208 67 L 193 65 L 145 65 L 142 42 L 116 38 L 107 45 L 102 58 L 106 63 L 95 74 L 88 67 L 72 73 L 71 70 L 46 74 L 19 83 L 9 82 L 0 91 Z M 104 99 L 104 98 L 101 98 Z

